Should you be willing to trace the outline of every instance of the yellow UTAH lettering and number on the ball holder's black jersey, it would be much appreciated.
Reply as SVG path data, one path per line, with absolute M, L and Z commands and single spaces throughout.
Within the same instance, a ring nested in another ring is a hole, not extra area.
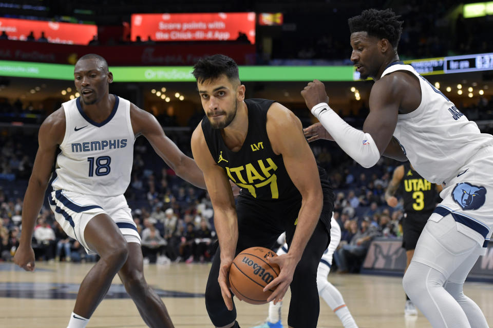
M 255 162 L 247 163 L 236 168 L 226 166 L 224 169 L 231 181 L 236 183 L 238 187 L 247 189 L 253 197 L 257 197 L 256 188 L 270 185 L 272 198 L 279 198 L 277 176 L 273 174 L 277 170 L 277 165 L 270 157 L 259 159 L 257 163 L 257 169 L 254 167 Z

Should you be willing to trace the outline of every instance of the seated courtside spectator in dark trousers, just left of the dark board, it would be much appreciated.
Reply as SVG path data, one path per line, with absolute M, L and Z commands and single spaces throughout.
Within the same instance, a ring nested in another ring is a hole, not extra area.
M 358 273 L 365 259 L 370 242 L 378 235 L 378 231 L 367 220 L 361 222 L 361 229 L 351 238 L 347 245 L 337 251 L 337 267 L 341 273 Z

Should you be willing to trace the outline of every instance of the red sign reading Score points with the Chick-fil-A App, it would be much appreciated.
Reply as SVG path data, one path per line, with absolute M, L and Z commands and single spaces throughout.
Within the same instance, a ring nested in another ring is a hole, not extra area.
M 140 36 L 155 41 L 236 40 L 240 35 L 255 44 L 255 13 L 132 14 L 132 41 Z

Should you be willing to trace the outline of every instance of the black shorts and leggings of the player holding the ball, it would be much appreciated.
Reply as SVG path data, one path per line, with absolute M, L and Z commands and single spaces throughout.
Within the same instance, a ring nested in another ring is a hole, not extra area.
M 331 191 L 332 193 L 332 191 Z M 325 193 L 324 193 L 325 194 Z M 332 194 L 333 195 L 333 194 Z M 325 196 L 325 195 L 324 195 Z M 288 325 L 315 328 L 319 314 L 319 296 L 316 276 L 318 263 L 330 243 L 330 218 L 332 197 L 324 197 L 324 207 L 317 226 L 298 262 L 291 282 L 291 302 Z M 240 196 L 236 202 L 238 216 L 238 242 L 235 255 L 244 249 L 262 246 L 273 249 L 279 235 L 286 231 L 286 241 L 291 244 L 296 229 L 296 218 L 301 207 L 301 197 L 290 200 L 259 200 Z M 217 327 L 236 320 L 236 308 L 228 311 L 217 282 L 220 250 L 214 257 L 205 289 L 205 306 Z

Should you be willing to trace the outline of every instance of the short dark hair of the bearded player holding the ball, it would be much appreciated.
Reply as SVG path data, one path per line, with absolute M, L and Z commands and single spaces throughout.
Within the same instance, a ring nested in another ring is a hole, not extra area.
M 203 83 L 208 79 L 216 79 L 223 74 L 230 80 L 236 79 L 239 81 L 240 79 L 238 65 L 233 58 L 221 54 L 199 59 L 194 66 L 192 74 L 194 74 L 199 83 Z

